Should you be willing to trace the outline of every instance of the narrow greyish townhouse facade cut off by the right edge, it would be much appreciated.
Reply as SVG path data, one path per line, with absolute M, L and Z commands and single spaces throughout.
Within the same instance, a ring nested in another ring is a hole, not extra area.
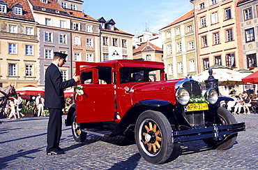
M 258 3 L 255 0 L 239 1 L 239 20 L 241 27 L 243 67 L 257 71 L 258 57 Z

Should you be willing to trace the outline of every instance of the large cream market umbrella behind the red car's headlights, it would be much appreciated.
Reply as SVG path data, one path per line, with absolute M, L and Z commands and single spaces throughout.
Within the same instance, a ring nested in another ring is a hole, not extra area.
M 218 64 L 216 64 L 218 65 Z M 241 85 L 243 84 L 242 78 L 250 75 L 250 73 L 240 73 L 231 69 L 227 69 L 225 66 L 213 67 L 213 77 L 218 79 L 218 85 L 227 86 L 227 85 Z M 209 76 L 208 70 L 198 73 L 195 76 L 192 76 L 194 80 L 199 81 L 199 83 L 204 84 L 204 80 L 207 80 Z

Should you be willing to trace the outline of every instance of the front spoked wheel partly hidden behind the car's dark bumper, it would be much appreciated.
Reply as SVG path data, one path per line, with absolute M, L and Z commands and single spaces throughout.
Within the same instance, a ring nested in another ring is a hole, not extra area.
M 236 123 L 234 115 L 232 115 L 231 112 L 227 111 L 226 108 L 218 108 L 218 116 L 220 118 L 220 122 L 218 122 L 218 125 L 231 125 Z M 217 138 L 203 139 L 203 141 L 208 147 L 212 149 L 226 150 L 233 146 L 236 141 L 236 137 L 237 133 L 218 136 Z

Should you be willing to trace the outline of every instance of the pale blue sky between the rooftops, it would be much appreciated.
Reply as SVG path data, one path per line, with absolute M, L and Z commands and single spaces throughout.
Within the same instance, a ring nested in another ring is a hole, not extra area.
M 86 15 L 113 19 L 117 29 L 133 35 L 146 30 L 159 33 L 192 8 L 190 0 L 84 0 L 82 6 Z

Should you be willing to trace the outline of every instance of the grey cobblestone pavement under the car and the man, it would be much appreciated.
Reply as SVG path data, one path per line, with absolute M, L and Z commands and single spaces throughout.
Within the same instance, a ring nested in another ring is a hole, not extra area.
M 146 162 L 135 144 L 118 146 L 88 135 L 76 143 L 70 127 L 63 126 L 64 155 L 46 155 L 48 118 L 1 119 L 0 169 L 258 169 L 258 114 L 236 115 L 246 131 L 229 150 L 210 150 L 203 141 L 176 143 L 166 164 Z M 63 115 L 63 120 L 66 118 Z

